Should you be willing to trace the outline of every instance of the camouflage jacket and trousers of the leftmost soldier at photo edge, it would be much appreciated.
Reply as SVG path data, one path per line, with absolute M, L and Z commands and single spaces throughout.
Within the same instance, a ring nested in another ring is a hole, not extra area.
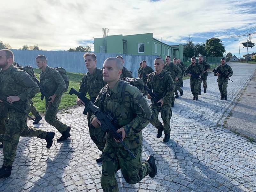
M 13 65 L 4 71 L 1 70 L 0 94 L 4 98 L 19 96 L 20 100 L 14 102 L 14 104 L 19 108 L 24 108 L 27 113 L 30 112 L 28 98 L 35 96 L 37 92 L 39 92 L 39 87 L 25 71 L 15 68 Z M 7 114 L 4 116 L 8 116 L 9 120 L 5 124 L 5 133 L 0 134 L 0 142 L 4 144 L 4 166 L 11 166 L 16 156 L 20 136 L 36 136 L 44 139 L 46 132 L 28 127 L 27 116 L 23 113 L 5 105 L 4 108 L 7 111 Z

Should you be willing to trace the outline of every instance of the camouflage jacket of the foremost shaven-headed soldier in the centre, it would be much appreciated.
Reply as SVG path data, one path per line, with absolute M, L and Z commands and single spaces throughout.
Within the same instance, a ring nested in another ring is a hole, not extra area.
M 129 149 L 137 148 L 142 145 L 141 130 L 148 125 L 152 111 L 139 89 L 130 84 L 125 86 L 124 102 L 120 102 L 122 91 L 120 82 L 123 81 L 119 79 L 112 90 L 106 85 L 100 91 L 94 104 L 100 107 L 105 114 L 111 113 L 117 128 L 124 127 L 126 133 L 124 144 Z M 103 94 L 104 92 L 106 94 Z M 95 115 L 92 115 L 91 120 L 94 117 Z M 110 133 L 106 134 L 106 142 L 114 147 L 123 148 L 122 144 L 117 143 Z

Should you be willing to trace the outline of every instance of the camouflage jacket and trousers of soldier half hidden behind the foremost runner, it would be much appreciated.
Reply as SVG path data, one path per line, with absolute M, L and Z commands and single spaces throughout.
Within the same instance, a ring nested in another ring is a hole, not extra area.
M 99 95 L 100 90 L 106 85 L 106 82 L 103 81 L 102 69 L 95 68 L 93 73 L 90 74 L 87 72 L 80 82 L 79 92 L 83 93 L 86 96 L 86 93 L 89 94 L 90 100 L 94 103 L 97 96 Z M 91 124 L 91 115 L 92 112 L 87 113 L 89 133 L 92 141 L 99 148 L 100 151 L 103 151 L 105 146 L 104 132 L 100 128 L 95 128 Z

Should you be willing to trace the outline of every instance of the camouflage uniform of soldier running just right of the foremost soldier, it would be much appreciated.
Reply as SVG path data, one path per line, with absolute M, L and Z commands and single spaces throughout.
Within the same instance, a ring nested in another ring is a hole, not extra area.
M 147 87 L 156 94 L 157 100 L 162 99 L 164 104 L 159 107 L 157 103 L 151 100 L 151 110 L 152 116 L 150 123 L 156 127 L 156 129 L 162 129 L 163 125 L 158 120 L 158 114 L 161 112 L 161 117 L 164 123 L 164 134 L 170 134 L 170 120 L 172 117 L 171 99 L 173 95 L 174 82 L 171 75 L 162 70 L 162 72 L 157 75 L 156 72 L 151 73 L 148 76 Z

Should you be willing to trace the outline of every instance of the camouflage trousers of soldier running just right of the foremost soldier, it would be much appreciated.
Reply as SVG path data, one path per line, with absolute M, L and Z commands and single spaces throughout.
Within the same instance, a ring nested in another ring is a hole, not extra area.
M 156 129 L 160 129 L 162 127 L 162 123 L 158 119 L 159 112 L 161 113 L 161 118 L 164 123 L 164 133 L 170 134 L 170 120 L 172 117 L 172 108 L 169 104 L 163 105 L 163 107 L 156 106 L 155 104 L 151 104 L 150 108 L 152 110 L 152 116 L 150 119 L 150 123 L 156 127 Z

